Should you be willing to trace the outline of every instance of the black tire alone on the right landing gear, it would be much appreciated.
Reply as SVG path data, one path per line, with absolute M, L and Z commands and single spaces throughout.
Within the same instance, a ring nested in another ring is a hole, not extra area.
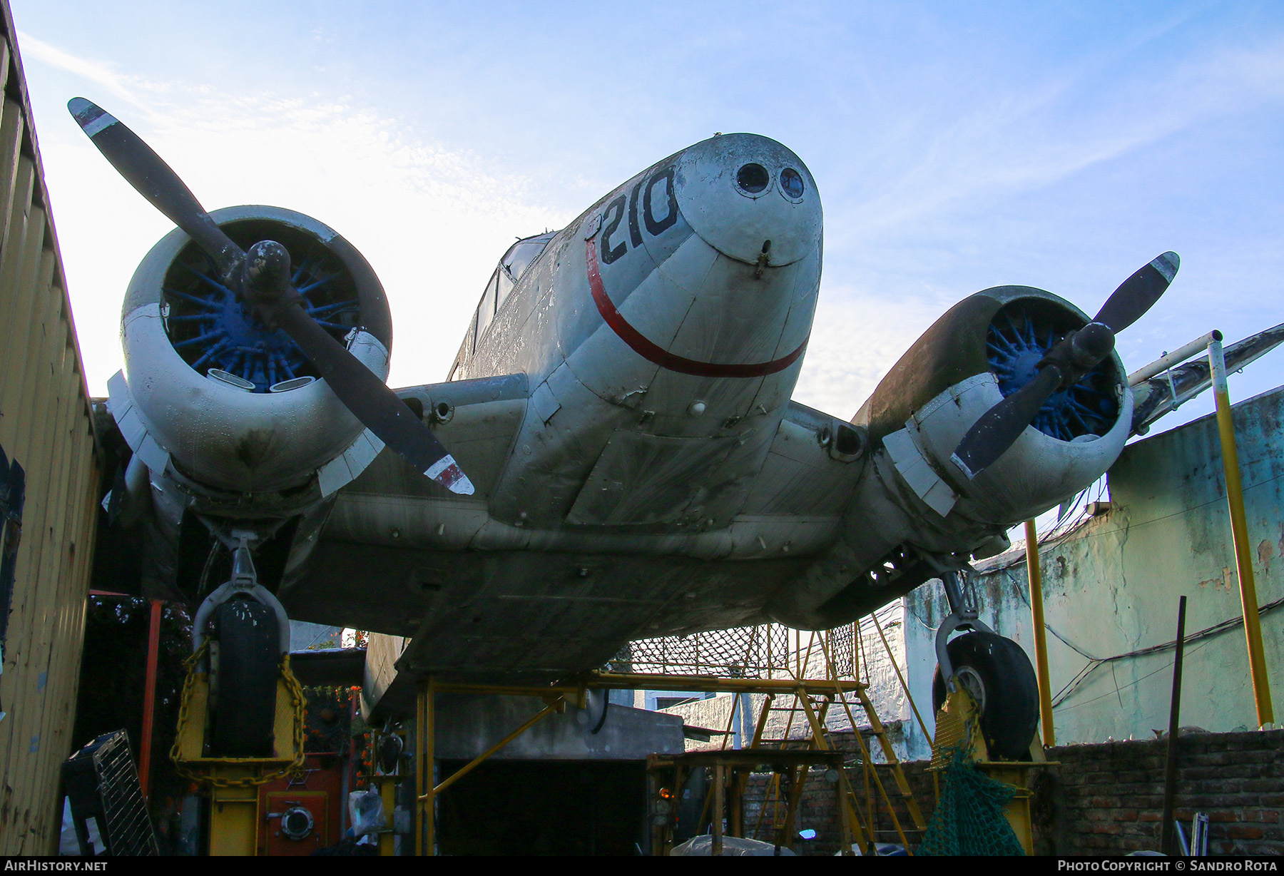
M 1039 727 L 1039 681 L 1030 658 L 1011 638 L 994 633 L 969 632 L 945 646 L 954 672 L 981 706 L 981 735 L 991 758 L 1028 760 L 1030 742 Z M 945 679 L 936 667 L 932 678 L 932 705 L 939 712 L 945 703 Z

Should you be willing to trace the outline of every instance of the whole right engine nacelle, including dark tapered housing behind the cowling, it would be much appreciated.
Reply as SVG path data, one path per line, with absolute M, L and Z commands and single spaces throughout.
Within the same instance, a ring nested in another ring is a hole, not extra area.
M 1030 286 L 978 292 L 941 316 L 853 417 L 871 455 L 831 555 L 785 587 L 773 615 L 796 627 L 846 623 L 1086 488 L 1118 459 L 1132 396 L 1117 353 L 1054 393 L 1035 423 L 975 480 L 950 460 L 968 429 L 1028 383 L 1048 348 L 1089 316 Z

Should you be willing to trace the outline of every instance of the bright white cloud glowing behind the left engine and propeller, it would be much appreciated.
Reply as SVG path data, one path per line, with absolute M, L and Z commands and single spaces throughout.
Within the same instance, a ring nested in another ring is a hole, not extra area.
M 117 94 L 100 66 L 73 64 L 48 44 L 39 57 Z M 207 209 L 289 207 L 362 250 L 393 310 L 394 385 L 444 379 L 502 250 L 517 235 L 571 218 L 537 207 L 526 179 L 494 173 L 476 155 L 444 149 L 342 96 L 135 83 L 130 100 L 149 112 L 116 114 Z M 169 225 L 87 139 L 55 136 L 42 145 L 86 374 L 91 392 L 101 393 L 119 367 L 116 308 L 137 261 Z

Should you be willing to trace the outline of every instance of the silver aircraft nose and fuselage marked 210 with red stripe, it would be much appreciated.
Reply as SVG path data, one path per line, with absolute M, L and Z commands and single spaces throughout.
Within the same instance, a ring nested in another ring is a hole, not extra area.
M 737 184 L 745 167 L 765 182 Z M 457 376 L 523 372 L 532 387 L 492 515 L 725 527 L 797 380 L 819 279 L 815 184 L 765 137 L 706 140 L 602 198 L 461 347 Z M 630 479 L 639 465 L 669 477 Z

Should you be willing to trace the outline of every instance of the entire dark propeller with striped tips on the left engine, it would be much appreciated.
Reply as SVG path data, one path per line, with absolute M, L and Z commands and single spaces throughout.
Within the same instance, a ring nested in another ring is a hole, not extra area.
M 258 320 L 277 326 L 362 425 L 407 462 L 455 493 L 471 495 L 473 482 L 437 435 L 392 389 L 303 310 L 290 283 L 290 254 L 275 240 L 241 250 L 209 217 L 178 175 L 134 131 L 83 98 L 67 108 L 121 176 L 213 259 L 227 288 L 236 290 Z

